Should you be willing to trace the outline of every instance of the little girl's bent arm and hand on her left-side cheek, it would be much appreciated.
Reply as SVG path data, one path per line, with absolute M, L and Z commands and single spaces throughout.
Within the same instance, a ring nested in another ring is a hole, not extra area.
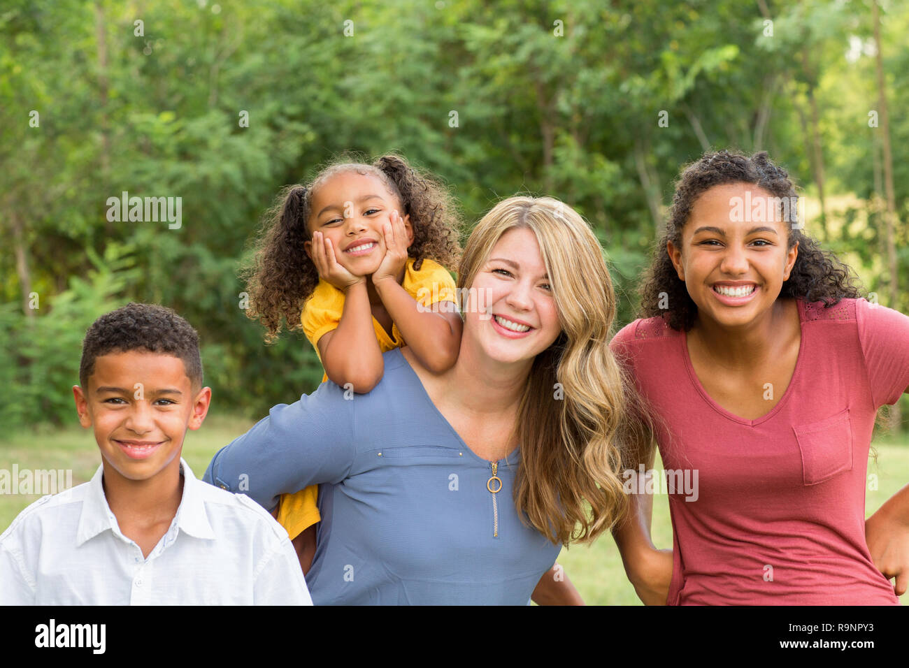
M 338 264 L 331 241 L 319 232 L 313 234 L 313 264 L 320 278 L 345 293 L 341 321 L 317 342 L 325 374 L 335 384 L 344 387 L 350 383 L 354 392 L 365 394 L 385 373 L 382 349 L 373 328 L 366 277 L 355 276 Z

